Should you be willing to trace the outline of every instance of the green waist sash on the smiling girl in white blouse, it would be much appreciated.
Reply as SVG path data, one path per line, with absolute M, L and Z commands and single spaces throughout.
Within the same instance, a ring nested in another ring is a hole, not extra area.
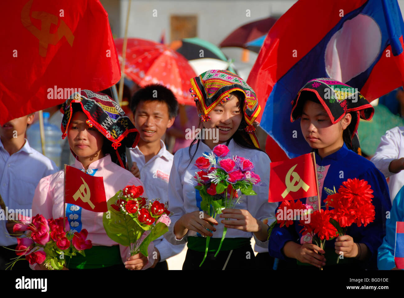
M 216 252 L 219 248 L 221 238 L 210 238 L 208 252 Z M 250 244 L 250 238 L 225 238 L 220 251 L 235 250 L 242 246 Z M 188 237 L 187 247 L 197 252 L 205 252 L 206 238 L 204 237 Z

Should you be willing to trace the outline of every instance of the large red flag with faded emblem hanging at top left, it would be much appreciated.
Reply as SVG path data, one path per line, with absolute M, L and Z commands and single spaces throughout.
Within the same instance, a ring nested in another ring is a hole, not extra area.
M 5 6 L 5 7 L 4 7 Z M 120 79 L 99 0 L 6 1 L 0 19 L 0 124 Z

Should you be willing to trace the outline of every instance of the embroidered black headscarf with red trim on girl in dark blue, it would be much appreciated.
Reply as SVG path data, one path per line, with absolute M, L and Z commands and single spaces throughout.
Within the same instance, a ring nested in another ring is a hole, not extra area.
M 326 110 L 332 124 L 339 122 L 346 113 L 351 113 L 352 120 L 349 124 L 349 132 L 351 135 L 351 144 L 347 144 L 353 151 L 361 153 L 359 137 L 357 134 L 360 118 L 370 120 L 375 113 L 375 109 L 360 94 L 357 88 L 352 88 L 347 84 L 338 82 L 330 78 L 319 78 L 310 80 L 297 93 L 294 101 L 292 101 L 292 113 L 290 114 L 290 122 L 295 121 L 301 116 L 303 110 L 303 101 L 299 98 L 306 92 L 311 92 L 311 96 L 315 94 L 321 105 Z

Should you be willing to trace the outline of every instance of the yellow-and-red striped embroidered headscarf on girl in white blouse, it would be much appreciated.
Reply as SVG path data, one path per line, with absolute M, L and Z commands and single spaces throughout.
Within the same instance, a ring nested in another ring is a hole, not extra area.
M 252 124 L 261 112 L 261 107 L 254 90 L 242 78 L 228 70 L 211 69 L 191 79 L 191 86 L 189 92 L 196 102 L 199 101 L 205 119 L 209 119 L 208 113 L 219 103 L 223 104 L 229 100 L 231 92 L 241 91 L 245 99 L 243 112 L 247 123 L 244 130 L 249 134 L 252 144 L 259 148 L 255 127 Z

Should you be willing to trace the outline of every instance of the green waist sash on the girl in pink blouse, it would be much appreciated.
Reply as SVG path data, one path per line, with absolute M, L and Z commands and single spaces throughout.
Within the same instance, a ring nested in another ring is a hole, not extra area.
M 72 258 L 66 257 L 66 263 L 69 269 L 95 269 L 110 267 L 122 264 L 119 245 L 113 246 L 93 246 L 84 250 L 86 256 L 77 254 Z

